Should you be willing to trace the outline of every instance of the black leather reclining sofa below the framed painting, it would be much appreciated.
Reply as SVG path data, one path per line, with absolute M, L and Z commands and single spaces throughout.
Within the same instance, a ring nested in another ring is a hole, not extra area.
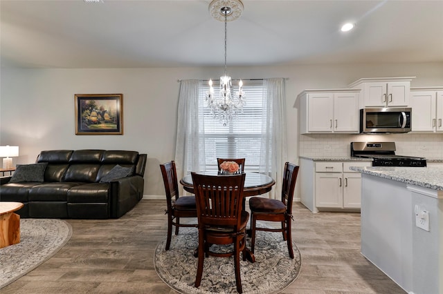
M 1 178 L 0 201 L 23 203 L 24 218 L 118 218 L 143 197 L 146 159 L 125 150 L 42 151 L 35 164 Z

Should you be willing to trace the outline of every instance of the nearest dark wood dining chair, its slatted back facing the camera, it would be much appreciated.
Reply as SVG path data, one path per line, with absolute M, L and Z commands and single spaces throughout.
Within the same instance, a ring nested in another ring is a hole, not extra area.
M 249 213 L 242 209 L 245 174 L 230 176 L 199 175 L 191 173 L 197 200 L 199 249 L 197 277 L 198 288 L 203 275 L 204 258 L 208 255 L 230 257 L 234 255 L 235 284 L 242 293 L 240 278 L 240 252 L 246 260 L 246 224 Z M 233 244 L 233 251 L 210 251 L 212 244 Z

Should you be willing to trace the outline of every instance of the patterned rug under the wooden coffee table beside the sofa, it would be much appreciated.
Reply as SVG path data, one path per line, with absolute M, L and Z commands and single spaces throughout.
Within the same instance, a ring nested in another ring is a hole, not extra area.
M 20 219 L 20 243 L 0 249 L 0 288 L 48 260 L 71 235 L 71 225 L 60 219 Z

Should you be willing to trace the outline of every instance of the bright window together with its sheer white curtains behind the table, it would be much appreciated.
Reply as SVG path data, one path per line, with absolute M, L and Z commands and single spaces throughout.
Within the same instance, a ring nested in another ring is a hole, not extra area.
M 284 79 L 244 81 L 246 106 L 223 126 L 205 107 L 208 82 L 181 80 L 177 113 L 177 175 L 216 170 L 217 157 L 245 157 L 245 171 L 275 179 L 272 197 L 280 195 L 287 160 Z

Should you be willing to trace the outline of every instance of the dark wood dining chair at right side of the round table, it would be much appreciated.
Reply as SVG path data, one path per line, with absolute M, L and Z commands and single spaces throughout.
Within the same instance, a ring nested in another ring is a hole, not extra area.
M 286 162 L 284 164 L 282 198 L 269 199 L 262 197 L 251 197 L 249 208 L 251 209 L 251 251 L 255 249 L 256 231 L 282 232 L 283 239 L 287 241 L 289 256 L 293 258 L 291 220 L 293 192 L 296 187 L 296 180 L 299 166 Z M 281 228 L 257 227 L 257 220 L 268 222 L 280 222 Z

